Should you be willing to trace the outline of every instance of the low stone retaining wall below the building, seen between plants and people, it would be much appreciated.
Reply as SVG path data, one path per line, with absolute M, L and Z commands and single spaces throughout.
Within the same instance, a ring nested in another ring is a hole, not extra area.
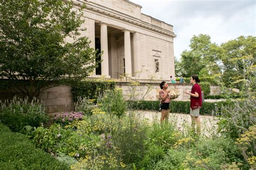
M 131 95 L 131 86 L 126 82 L 118 82 L 117 88 L 123 89 L 123 95 L 126 100 L 129 100 Z M 169 83 L 170 89 L 177 89 L 180 96 L 174 100 L 183 101 L 190 98 L 184 91 L 191 90 L 191 84 L 189 83 Z M 158 100 L 157 95 L 159 91 L 159 83 L 156 82 L 141 82 L 139 86 L 135 88 L 135 95 L 137 100 L 156 101 Z M 146 95 L 145 95 L 146 94 Z M 220 88 L 218 86 L 211 86 L 210 95 L 220 94 Z M 0 90 L 0 100 L 11 100 L 15 95 L 19 94 L 10 89 Z M 39 100 L 43 100 L 45 103 L 45 111 L 48 113 L 52 112 L 63 112 L 74 110 L 74 100 L 72 94 L 72 88 L 69 86 L 58 86 L 44 90 L 38 97 Z

